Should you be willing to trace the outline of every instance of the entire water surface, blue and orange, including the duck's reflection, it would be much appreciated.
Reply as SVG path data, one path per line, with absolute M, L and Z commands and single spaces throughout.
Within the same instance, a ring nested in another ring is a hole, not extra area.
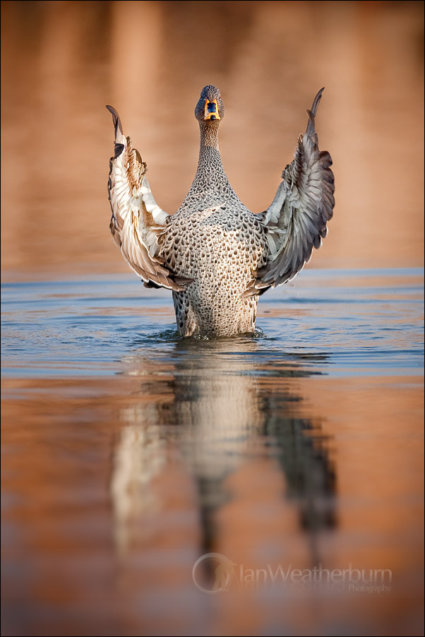
M 2 313 L 4 634 L 421 634 L 423 270 L 307 270 L 237 338 L 179 338 L 132 275 Z M 268 565 L 392 581 L 244 581 Z

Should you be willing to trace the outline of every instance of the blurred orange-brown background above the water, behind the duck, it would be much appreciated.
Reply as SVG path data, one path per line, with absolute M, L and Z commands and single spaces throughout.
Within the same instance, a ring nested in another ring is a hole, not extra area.
M 398 1 L 1 3 L 4 280 L 128 272 L 109 236 L 113 129 L 172 213 L 198 157 L 193 108 L 214 83 L 222 159 L 258 212 L 292 160 L 306 108 L 330 150 L 335 218 L 310 267 L 420 266 L 423 11 Z

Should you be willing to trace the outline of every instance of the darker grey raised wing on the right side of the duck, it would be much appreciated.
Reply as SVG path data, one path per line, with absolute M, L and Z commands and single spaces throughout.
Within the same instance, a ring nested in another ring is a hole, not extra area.
M 326 224 L 335 204 L 332 159 L 327 151 L 319 150 L 314 126 L 322 93 L 323 88 L 307 111 L 306 133 L 299 136 L 294 161 L 283 171 L 273 203 L 256 215 L 267 228 L 268 261 L 254 273 L 244 296 L 292 280 L 328 234 Z

